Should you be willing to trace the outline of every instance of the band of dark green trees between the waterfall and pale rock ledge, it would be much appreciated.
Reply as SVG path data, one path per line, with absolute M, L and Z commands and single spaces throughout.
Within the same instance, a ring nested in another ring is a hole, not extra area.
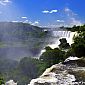
M 40 60 L 48 66 L 64 61 L 69 56 L 85 57 L 85 25 L 73 26 L 67 30 L 77 32 L 74 36 L 74 43 L 70 46 L 65 38 L 60 39 L 59 48 L 46 47 L 46 52 L 40 56 Z M 66 52 L 62 50 L 66 50 Z

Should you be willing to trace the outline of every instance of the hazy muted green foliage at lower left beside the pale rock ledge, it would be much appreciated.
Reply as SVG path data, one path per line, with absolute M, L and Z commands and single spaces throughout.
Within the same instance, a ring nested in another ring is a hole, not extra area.
M 0 62 L 1 63 L 1 62 Z M 5 63 L 3 61 L 3 63 Z M 7 63 L 6 66 L 9 66 L 11 63 Z M 46 64 L 39 59 L 25 57 L 20 60 L 16 67 L 9 67 L 3 69 L 3 66 L 0 64 L 0 71 L 5 78 L 5 81 L 13 79 L 15 82 L 18 82 L 18 85 L 27 85 L 31 79 L 39 77 L 47 68 Z M 3 71 L 2 71 L 3 70 Z

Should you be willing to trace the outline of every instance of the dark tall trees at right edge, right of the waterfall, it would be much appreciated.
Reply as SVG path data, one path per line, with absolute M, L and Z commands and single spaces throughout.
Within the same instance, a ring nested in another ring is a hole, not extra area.
M 84 57 L 85 56 L 85 25 L 80 26 L 79 29 L 77 29 L 77 34 L 78 35 L 74 37 L 74 43 L 71 45 L 71 50 L 74 56 Z

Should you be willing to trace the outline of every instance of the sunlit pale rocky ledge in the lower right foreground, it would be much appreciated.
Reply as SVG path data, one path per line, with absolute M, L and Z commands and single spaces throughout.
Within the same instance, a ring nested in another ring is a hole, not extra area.
M 85 65 L 83 59 L 72 59 L 46 69 L 28 85 L 85 85 Z

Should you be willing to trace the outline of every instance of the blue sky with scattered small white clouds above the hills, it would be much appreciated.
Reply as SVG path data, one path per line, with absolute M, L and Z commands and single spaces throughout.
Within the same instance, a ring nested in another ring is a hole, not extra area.
M 46 27 L 81 25 L 84 6 L 85 0 L 0 0 L 0 21 Z

